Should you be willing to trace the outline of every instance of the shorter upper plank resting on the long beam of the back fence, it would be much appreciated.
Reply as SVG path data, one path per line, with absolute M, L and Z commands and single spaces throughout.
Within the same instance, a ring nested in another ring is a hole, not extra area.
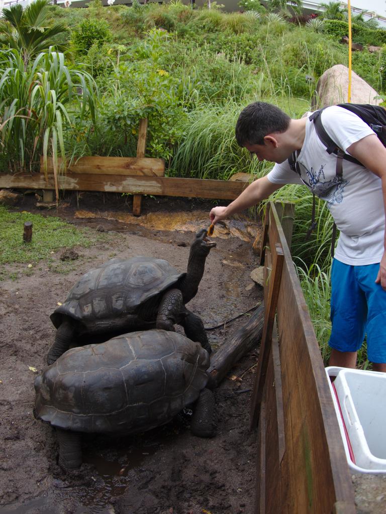
M 63 160 L 58 158 L 58 169 L 62 168 Z M 43 172 L 43 157 L 40 158 L 40 169 Z M 47 173 L 54 173 L 54 164 L 51 157 L 47 158 Z M 80 157 L 67 168 L 66 173 L 80 175 L 139 175 L 149 177 L 163 177 L 165 175 L 165 162 L 163 159 L 150 157 Z

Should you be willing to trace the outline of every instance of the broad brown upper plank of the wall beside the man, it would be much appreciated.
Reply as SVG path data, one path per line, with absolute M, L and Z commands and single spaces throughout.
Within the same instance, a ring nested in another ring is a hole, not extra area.
M 284 265 L 277 299 L 285 428 L 280 490 L 285 511 L 356 512 L 354 491 L 323 360 L 284 232 L 271 205 L 270 246 L 280 243 Z M 267 411 L 267 426 L 268 409 Z M 267 473 L 267 490 L 270 484 Z M 339 510 L 337 510 L 339 511 Z

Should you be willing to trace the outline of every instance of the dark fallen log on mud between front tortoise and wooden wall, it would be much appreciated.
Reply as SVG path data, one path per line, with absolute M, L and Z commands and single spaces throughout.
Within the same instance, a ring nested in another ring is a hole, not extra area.
M 232 366 L 260 342 L 264 324 L 264 304 L 261 303 L 250 319 L 210 356 L 208 387 L 217 387 Z

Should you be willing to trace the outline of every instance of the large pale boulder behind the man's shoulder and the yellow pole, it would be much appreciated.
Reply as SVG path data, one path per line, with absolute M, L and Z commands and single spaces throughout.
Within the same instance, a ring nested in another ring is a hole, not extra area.
M 336 64 L 327 69 L 317 84 L 317 95 L 312 101 L 312 109 L 347 102 L 348 68 Z M 352 71 L 351 102 L 378 105 L 383 102 L 375 89 Z

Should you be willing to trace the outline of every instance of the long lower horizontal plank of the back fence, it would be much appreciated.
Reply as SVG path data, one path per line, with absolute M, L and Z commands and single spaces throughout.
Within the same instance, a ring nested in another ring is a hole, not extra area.
M 67 174 L 59 177 L 59 189 L 114 193 L 187 196 L 233 200 L 248 185 L 231 180 L 174 177 L 125 177 L 122 175 Z M 10 175 L 0 173 L 1 188 L 55 189 L 54 176 L 43 173 Z

